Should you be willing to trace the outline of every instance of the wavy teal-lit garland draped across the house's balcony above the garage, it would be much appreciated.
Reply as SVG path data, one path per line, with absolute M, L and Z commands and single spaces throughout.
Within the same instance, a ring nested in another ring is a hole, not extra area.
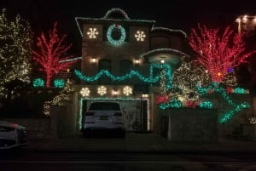
M 160 80 L 160 75 L 158 75 L 158 76 L 153 75 L 154 68 L 159 68 L 159 69 L 165 69 L 166 70 L 166 90 L 170 89 L 172 87 L 172 70 L 171 70 L 171 66 L 169 66 L 167 64 L 153 64 L 153 65 L 151 65 L 150 66 L 150 76 L 149 77 L 144 77 L 138 71 L 134 71 L 134 70 L 131 70 L 130 73 L 127 73 L 123 76 L 113 76 L 113 74 L 111 74 L 109 71 L 102 70 L 102 71 L 99 71 L 96 74 L 96 76 L 94 76 L 94 77 L 84 76 L 78 70 L 75 70 L 74 72 L 81 80 L 84 80 L 85 82 L 94 82 L 94 81 L 97 81 L 103 75 L 106 75 L 107 77 L 111 78 L 113 81 L 116 81 L 116 82 L 124 81 L 125 79 L 136 76 L 140 80 L 142 80 L 144 83 L 156 83 Z

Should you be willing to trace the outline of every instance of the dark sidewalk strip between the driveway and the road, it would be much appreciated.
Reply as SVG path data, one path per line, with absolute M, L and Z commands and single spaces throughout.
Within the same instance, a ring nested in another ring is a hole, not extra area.
M 125 138 L 84 138 L 77 134 L 67 138 L 30 140 L 25 148 L 28 151 L 256 153 L 256 141 L 219 139 L 214 143 L 172 142 L 157 134 L 129 132 Z

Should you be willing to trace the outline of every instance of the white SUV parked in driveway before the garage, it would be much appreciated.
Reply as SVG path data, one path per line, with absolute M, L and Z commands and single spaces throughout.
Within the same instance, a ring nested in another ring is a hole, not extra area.
M 82 117 L 82 128 L 86 137 L 93 132 L 106 131 L 107 133 L 125 136 L 125 113 L 118 102 L 96 101 L 90 104 Z

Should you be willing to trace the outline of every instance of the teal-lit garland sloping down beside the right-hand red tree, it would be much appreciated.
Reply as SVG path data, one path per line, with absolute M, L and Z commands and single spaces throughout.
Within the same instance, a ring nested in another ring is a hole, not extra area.
M 220 94 L 224 100 L 227 101 L 228 105 L 232 105 L 235 107 L 235 109 L 225 112 L 224 115 L 220 117 L 219 119 L 220 123 L 227 123 L 230 120 L 230 118 L 233 117 L 238 111 L 241 111 L 242 109 L 246 109 L 250 107 L 250 105 L 247 104 L 246 102 L 243 102 L 237 105 L 233 100 L 231 100 L 226 90 L 220 87 L 219 83 L 212 83 L 211 85 L 208 86 L 208 88 L 197 87 L 196 89 L 201 95 L 216 92 Z

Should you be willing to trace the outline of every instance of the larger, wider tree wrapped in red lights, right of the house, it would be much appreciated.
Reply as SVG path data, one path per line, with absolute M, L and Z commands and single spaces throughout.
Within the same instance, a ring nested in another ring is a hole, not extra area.
M 247 62 L 247 58 L 255 53 L 246 51 L 242 35 L 232 31 L 230 26 L 221 34 L 218 29 L 198 24 L 198 31 L 192 29 L 189 46 L 197 54 L 201 65 L 210 72 L 212 82 L 222 82 L 228 71 Z

